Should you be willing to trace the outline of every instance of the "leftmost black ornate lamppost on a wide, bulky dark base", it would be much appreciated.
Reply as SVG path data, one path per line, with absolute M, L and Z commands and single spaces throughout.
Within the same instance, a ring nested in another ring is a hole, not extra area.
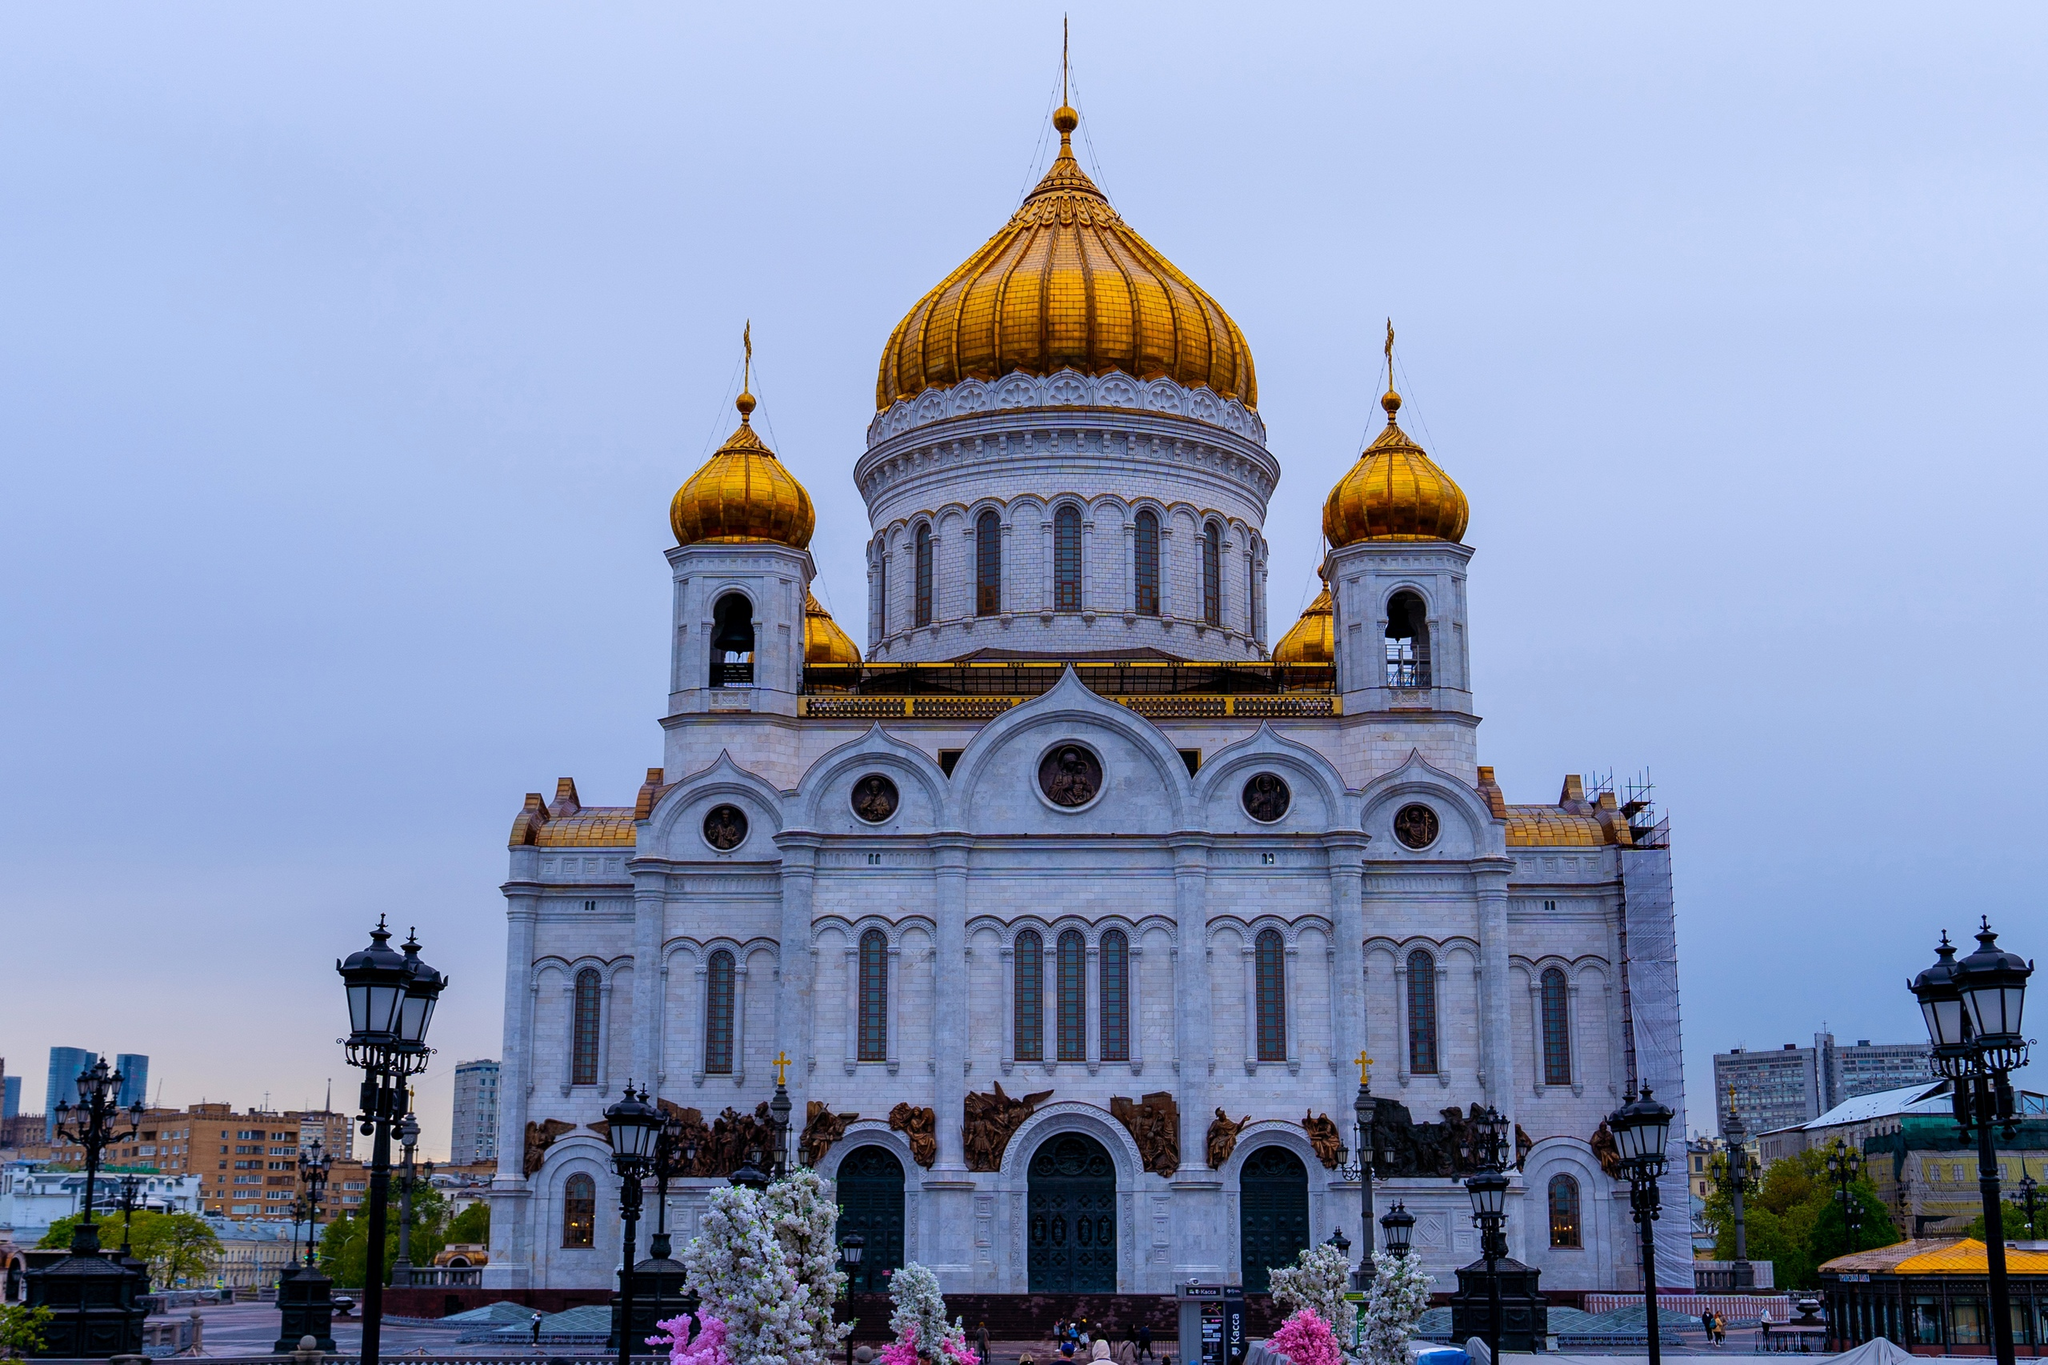
M 53 1115 L 55 1134 L 86 1150 L 86 1189 L 70 1254 L 47 1269 L 29 1271 L 29 1308 L 51 1312 L 39 1355 L 141 1353 L 145 1310 L 135 1300 L 147 1289 L 147 1279 L 125 1261 L 100 1254 L 100 1230 L 92 1222 L 100 1156 L 141 1128 L 141 1101 L 121 1109 L 119 1095 L 121 1072 L 109 1070 L 106 1058 L 94 1058 L 92 1066 L 78 1072 L 78 1103 L 59 1103 Z M 127 1132 L 117 1132 L 123 1124 Z

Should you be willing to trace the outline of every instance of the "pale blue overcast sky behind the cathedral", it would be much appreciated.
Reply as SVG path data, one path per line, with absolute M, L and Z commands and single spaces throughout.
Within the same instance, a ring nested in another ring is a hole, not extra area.
M 1464 487 L 1481 761 L 1655 782 L 1688 1081 L 2042 952 L 2048 10 L 0 10 L 0 1056 L 350 1095 L 334 960 L 498 1056 L 506 831 L 659 761 L 666 512 L 756 424 L 860 632 L 895 321 L 1049 156 L 1243 327 L 1284 475 Z M 1413 420 L 1413 422 L 1411 422 Z M 1696 1117 L 1698 1121 L 1698 1117 Z

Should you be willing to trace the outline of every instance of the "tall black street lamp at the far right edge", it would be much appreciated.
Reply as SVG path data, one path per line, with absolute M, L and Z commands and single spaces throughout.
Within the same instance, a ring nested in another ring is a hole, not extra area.
M 1933 1068 L 1954 1081 L 1956 1124 L 1964 1140 L 1976 1130 L 1976 1189 L 1985 1203 L 1985 1263 L 1991 1271 L 1991 1340 L 1999 1365 L 2013 1365 L 2005 1218 L 1991 1128 L 2003 1126 L 2007 1140 L 2017 1132 L 2013 1070 L 2028 1064 L 2028 1040 L 2019 1029 L 2034 964 L 1999 948 L 1991 919 L 1978 923 L 1974 954 L 1956 962 L 1956 948 L 1944 933 L 1933 966 L 1915 976 L 1909 988 L 1927 1021 Z

